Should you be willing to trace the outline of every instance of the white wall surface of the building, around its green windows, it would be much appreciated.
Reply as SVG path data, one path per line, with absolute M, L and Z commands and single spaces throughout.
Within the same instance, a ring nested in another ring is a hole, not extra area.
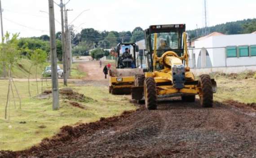
M 213 67 L 220 66 L 250 66 L 256 65 L 256 57 L 232 57 L 226 58 L 226 49 L 218 47 L 256 45 L 256 34 L 221 35 L 212 36 L 195 41 L 195 48 L 207 49 Z M 200 49 L 194 50 L 196 63 L 198 62 Z

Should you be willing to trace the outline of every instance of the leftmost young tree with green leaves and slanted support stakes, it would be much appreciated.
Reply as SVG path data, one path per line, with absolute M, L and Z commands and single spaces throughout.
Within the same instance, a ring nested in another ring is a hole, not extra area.
M 5 43 L 1 44 L 1 51 L 0 51 L 0 60 L 4 61 L 9 66 L 9 86 L 7 92 L 7 101 L 5 105 L 5 113 L 4 118 L 7 119 L 7 108 L 9 105 L 9 96 L 10 91 L 12 91 L 12 84 L 16 89 L 19 101 L 20 101 L 20 109 L 21 109 L 21 99 L 19 97 L 18 89 L 16 88 L 14 81 L 12 79 L 12 69 L 15 63 L 20 59 L 20 51 L 18 50 L 18 35 L 13 34 L 11 35 L 7 32 L 3 37 Z

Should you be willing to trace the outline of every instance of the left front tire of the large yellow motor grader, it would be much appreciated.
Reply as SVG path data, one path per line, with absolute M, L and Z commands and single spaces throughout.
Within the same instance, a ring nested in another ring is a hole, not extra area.
M 144 81 L 145 105 L 148 110 L 157 109 L 156 86 L 153 77 L 146 78 Z

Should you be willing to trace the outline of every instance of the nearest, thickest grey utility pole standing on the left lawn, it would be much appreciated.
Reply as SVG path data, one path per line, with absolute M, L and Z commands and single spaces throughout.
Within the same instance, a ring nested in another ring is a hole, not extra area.
M 55 18 L 53 0 L 49 0 L 49 21 L 50 21 L 50 45 L 51 45 L 51 69 L 52 69 L 52 92 L 53 92 L 53 110 L 59 109 L 59 89 L 57 73 L 57 52 L 55 35 Z

